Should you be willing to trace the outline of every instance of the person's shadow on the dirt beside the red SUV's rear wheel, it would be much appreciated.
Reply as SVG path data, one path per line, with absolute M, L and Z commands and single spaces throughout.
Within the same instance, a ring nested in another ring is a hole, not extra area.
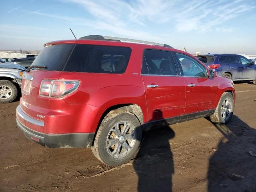
M 155 112 L 161 119 L 162 112 Z M 133 163 L 138 174 L 138 192 L 172 191 L 174 164 L 169 140 L 174 136 L 175 133 L 169 126 L 144 134 L 140 151 Z

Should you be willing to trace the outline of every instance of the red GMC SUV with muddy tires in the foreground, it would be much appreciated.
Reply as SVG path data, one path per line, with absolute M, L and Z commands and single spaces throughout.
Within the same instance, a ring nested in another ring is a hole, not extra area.
M 117 166 L 136 154 L 143 130 L 232 117 L 232 80 L 168 45 L 86 36 L 44 46 L 22 77 L 16 110 L 18 127 L 43 146 L 91 147 Z

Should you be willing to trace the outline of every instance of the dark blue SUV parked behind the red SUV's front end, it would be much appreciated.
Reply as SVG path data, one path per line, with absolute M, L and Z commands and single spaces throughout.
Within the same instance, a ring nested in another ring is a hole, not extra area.
M 207 54 L 197 58 L 208 68 L 217 72 L 218 76 L 238 80 L 252 80 L 256 84 L 256 64 L 236 54 Z

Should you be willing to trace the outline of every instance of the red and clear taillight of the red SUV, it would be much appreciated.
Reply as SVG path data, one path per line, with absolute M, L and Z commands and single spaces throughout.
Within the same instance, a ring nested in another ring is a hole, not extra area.
M 42 80 L 39 95 L 44 97 L 63 97 L 79 87 L 79 81 Z

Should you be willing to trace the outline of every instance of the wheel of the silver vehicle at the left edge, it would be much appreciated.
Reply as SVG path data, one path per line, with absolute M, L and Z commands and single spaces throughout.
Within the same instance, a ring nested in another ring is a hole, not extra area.
M 11 90 L 10 94 L 3 95 L 4 93 L 6 93 L 6 91 L 10 91 L 10 90 Z M 9 80 L 0 80 L 0 103 L 10 103 L 16 99 L 17 95 L 18 95 L 18 89 L 15 86 L 15 84 L 10 82 Z

